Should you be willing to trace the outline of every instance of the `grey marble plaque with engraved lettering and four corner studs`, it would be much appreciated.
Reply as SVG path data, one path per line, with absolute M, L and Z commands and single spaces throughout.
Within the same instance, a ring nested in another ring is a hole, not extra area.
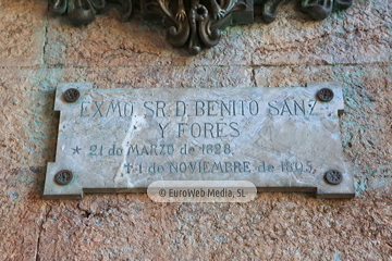
M 318 98 L 323 88 L 332 100 Z M 341 142 L 339 83 L 219 89 L 63 84 L 54 110 L 57 156 L 48 163 L 45 198 L 146 192 L 156 181 L 247 181 L 258 191 L 319 198 L 355 194 Z

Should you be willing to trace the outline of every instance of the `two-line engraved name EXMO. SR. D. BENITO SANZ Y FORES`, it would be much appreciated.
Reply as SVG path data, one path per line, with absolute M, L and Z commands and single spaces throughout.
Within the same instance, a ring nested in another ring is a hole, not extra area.
M 267 110 L 257 100 L 194 100 L 185 101 L 82 101 L 81 117 L 130 117 L 137 116 L 135 107 L 140 105 L 140 116 L 145 119 L 160 117 L 194 117 L 195 122 L 176 121 L 176 137 L 192 138 L 225 138 L 241 135 L 240 124 L 224 121 L 230 117 L 245 116 L 314 116 L 317 100 L 273 100 L 267 101 Z M 203 122 L 197 122 L 203 119 Z M 218 120 L 215 120 L 218 119 Z M 160 137 L 170 123 L 158 123 Z

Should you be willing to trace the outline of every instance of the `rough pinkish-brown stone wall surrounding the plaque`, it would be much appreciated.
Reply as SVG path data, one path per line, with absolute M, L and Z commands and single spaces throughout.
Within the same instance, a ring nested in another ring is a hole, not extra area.
M 0 0 L 0 260 L 392 260 L 390 0 L 356 0 L 311 22 L 235 26 L 187 55 L 158 23 L 111 11 L 71 27 L 44 0 Z M 259 12 L 259 10 L 258 10 Z M 61 82 L 95 87 L 305 86 L 340 80 L 356 198 L 259 194 L 249 203 L 163 203 L 146 195 L 42 200 Z

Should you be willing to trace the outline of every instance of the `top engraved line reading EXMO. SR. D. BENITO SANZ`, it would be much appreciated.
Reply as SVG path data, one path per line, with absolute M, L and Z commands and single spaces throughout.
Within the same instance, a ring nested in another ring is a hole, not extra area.
M 317 100 L 283 100 L 268 101 L 268 113 L 270 115 L 311 115 Z M 132 101 L 90 101 L 81 103 L 82 117 L 108 117 L 108 116 L 132 116 L 134 113 L 134 102 Z M 305 105 L 307 104 L 307 105 Z M 170 115 L 168 107 L 173 105 L 174 115 Z M 184 101 L 145 101 L 143 103 L 145 117 L 170 117 L 170 116 L 256 116 L 259 114 L 260 107 L 256 100 L 196 100 L 189 103 Z

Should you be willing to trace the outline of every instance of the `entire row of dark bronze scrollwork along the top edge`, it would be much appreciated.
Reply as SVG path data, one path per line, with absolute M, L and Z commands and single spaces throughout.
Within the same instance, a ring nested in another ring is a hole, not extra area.
M 262 5 L 262 18 L 271 23 L 280 7 L 297 0 L 255 0 Z M 353 0 L 301 0 L 301 9 L 313 20 L 323 20 L 332 9 L 346 9 Z M 75 26 L 91 23 L 95 16 L 115 3 L 123 21 L 132 16 L 133 5 L 148 18 L 162 18 L 168 30 L 168 41 L 173 47 L 186 47 L 192 54 L 201 48 L 218 45 L 221 29 L 229 25 L 254 22 L 254 0 L 51 0 L 54 14 L 66 14 Z

